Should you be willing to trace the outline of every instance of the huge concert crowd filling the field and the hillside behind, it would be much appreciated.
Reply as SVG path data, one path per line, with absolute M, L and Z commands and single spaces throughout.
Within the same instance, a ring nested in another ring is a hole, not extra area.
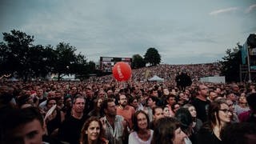
M 218 63 L 86 82 L 0 82 L 0 143 L 255 143 L 255 83 L 206 83 Z M 192 84 L 180 89 L 182 71 Z M 147 82 L 154 74 L 164 82 Z

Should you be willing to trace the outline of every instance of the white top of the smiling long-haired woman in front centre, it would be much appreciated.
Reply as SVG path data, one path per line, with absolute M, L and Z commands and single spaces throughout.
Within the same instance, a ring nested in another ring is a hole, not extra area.
M 129 144 L 150 144 L 153 138 L 153 130 L 150 130 L 150 138 L 147 141 L 143 141 L 141 138 L 138 138 L 138 134 L 136 131 L 130 133 L 129 135 Z

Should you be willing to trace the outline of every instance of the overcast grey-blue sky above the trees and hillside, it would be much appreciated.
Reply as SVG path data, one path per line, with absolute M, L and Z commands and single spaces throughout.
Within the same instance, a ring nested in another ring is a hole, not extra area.
M 255 0 L 1 0 L 2 32 L 22 30 L 34 45 L 70 43 L 88 61 L 143 56 L 162 63 L 217 62 L 256 33 Z

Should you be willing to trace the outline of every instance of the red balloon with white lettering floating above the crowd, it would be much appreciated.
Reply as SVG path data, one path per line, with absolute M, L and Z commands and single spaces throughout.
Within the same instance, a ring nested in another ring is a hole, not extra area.
M 131 76 L 131 68 L 126 62 L 117 62 L 112 68 L 114 78 L 121 81 L 127 81 Z

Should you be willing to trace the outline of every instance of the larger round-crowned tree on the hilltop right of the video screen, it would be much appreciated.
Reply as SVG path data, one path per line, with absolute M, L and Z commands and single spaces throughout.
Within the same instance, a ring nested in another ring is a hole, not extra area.
M 161 62 L 161 56 L 158 54 L 158 50 L 156 50 L 154 47 L 150 47 L 146 50 L 144 60 L 146 63 L 150 63 L 150 66 L 156 66 Z

